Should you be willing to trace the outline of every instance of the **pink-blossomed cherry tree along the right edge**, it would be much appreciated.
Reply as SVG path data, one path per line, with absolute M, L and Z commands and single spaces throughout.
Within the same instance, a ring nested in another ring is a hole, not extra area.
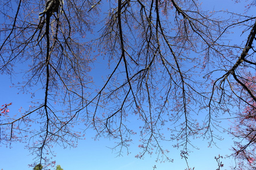
M 241 88 L 243 93 L 243 99 L 245 99 L 245 105 L 242 113 L 239 113 L 236 121 L 233 124 L 232 133 L 240 141 L 236 141 L 236 148 L 233 148 L 235 153 L 234 156 L 237 159 L 237 169 L 255 169 L 255 100 L 252 96 L 255 96 L 255 75 L 250 77 L 244 76 L 241 79 L 241 83 L 237 88 Z M 245 88 L 246 87 L 246 88 Z M 251 95 L 247 95 L 250 91 Z

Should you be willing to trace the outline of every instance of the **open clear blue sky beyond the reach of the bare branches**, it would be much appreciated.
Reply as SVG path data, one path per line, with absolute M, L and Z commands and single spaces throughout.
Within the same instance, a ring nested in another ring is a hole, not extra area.
M 214 9 L 217 11 L 221 9 L 229 9 L 230 11 L 241 13 L 244 12 L 240 11 L 241 6 L 246 5 L 247 2 L 242 3 L 242 5 L 234 5 L 234 2 L 231 0 L 205 0 L 203 2 L 203 8 L 205 8 L 205 10 Z M 102 72 L 104 72 L 104 70 L 101 70 L 101 73 Z M 17 77 L 16 80 L 19 80 L 19 77 Z M 14 81 L 16 82 L 16 80 Z M 20 107 L 29 105 L 27 101 L 30 101 L 30 95 L 17 95 L 18 90 L 15 88 L 10 88 L 10 86 L 11 83 L 9 77 L 6 75 L 1 75 L 0 104 L 13 102 L 13 105 L 10 107 L 10 114 L 13 114 L 14 112 L 18 112 Z M 169 156 L 170 158 L 174 159 L 174 163 L 156 163 L 156 155 L 146 155 L 144 159 L 134 158 L 134 156 L 137 155 L 140 151 L 138 148 L 138 141 L 134 141 L 134 145 L 131 146 L 131 154 L 126 155 L 124 153 L 123 156 L 116 157 L 117 155 L 115 154 L 115 151 L 112 151 L 108 148 L 114 146 L 114 141 L 109 141 L 108 139 L 104 138 L 101 138 L 100 141 L 93 141 L 93 136 L 94 133 L 92 131 L 86 133 L 86 140 L 79 141 L 77 148 L 63 149 L 59 146 L 53 148 L 53 151 L 56 152 L 56 157 L 53 158 L 53 160 L 56 160 L 56 165 L 60 164 L 64 170 L 152 170 L 154 165 L 157 167 L 156 170 L 184 170 L 187 168 L 185 160 L 181 159 L 180 157 L 180 150 L 176 150 L 176 148 L 172 147 L 175 142 L 164 142 L 162 144 L 170 150 Z M 215 170 L 217 168 L 217 163 L 216 160 L 214 160 L 214 156 L 218 156 L 218 154 L 222 156 L 230 154 L 231 151 L 229 148 L 231 148 L 230 146 L 233 145 L 232 139 L 227 134 L 224 134 L 223 137 L 223 141 L 218 141 L 218 147 L 212 146 L 210 148 L 208 147 L 207 141 L 203 141 L 203 139 L 194 140 L 194 144 L 199 147 L 200 150 L 191 148 L 193 152 L 189 154 L 188 158 L 190 167 L 195 167 L 195 170 Z M 26 144 L 13 143 L 11 145 L 11 149 L 5 148 L 3 146 L 0 147 L 0 169 L 32 169 L 28 168 L 28 164 L 33 162 L 32 159 L 34 158 L 34 155 L 30 155 L 30 152 L 24 149 L 24 145 Z M 229 169 L 229 165 L 234 165 L 233 159 L 222 159 L 222 162 L 224 163 L 224 168 L 222 169 Z

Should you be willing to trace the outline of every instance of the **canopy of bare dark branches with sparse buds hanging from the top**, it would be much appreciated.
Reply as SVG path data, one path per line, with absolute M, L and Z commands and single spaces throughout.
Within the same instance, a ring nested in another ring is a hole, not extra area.
M 212 145 L 218 118 L 238 117 L 235 129 L 246 130 L 230 133 L 246 142 L 234 156 L 251 163 L 255 123 L 248 129 L 245 120 L 256 116 L 256 16 L 247 12 L 255 1 L 240 14 L 205 11 L 200 3 L 1 1 L 0 73 L 22 72 L 20 91 L 42 96 L 17 115 L 5 106 L 1 143 L 27 141 L 38 162 L 48 163 L 53 144 L 75 146 L 93 129 L 96 138 L 117 139 L 119 154 L 139 135 L 137 158 L 154 149 L 171 161 L 160 141 L 177 141 L 183 153 L 193 138 Z M 241 35 L 238 44 L 226 38 Z M 93 69 L 102 58 L 107 73 Z M 104 80 L 94 81 L 96 74 Z

